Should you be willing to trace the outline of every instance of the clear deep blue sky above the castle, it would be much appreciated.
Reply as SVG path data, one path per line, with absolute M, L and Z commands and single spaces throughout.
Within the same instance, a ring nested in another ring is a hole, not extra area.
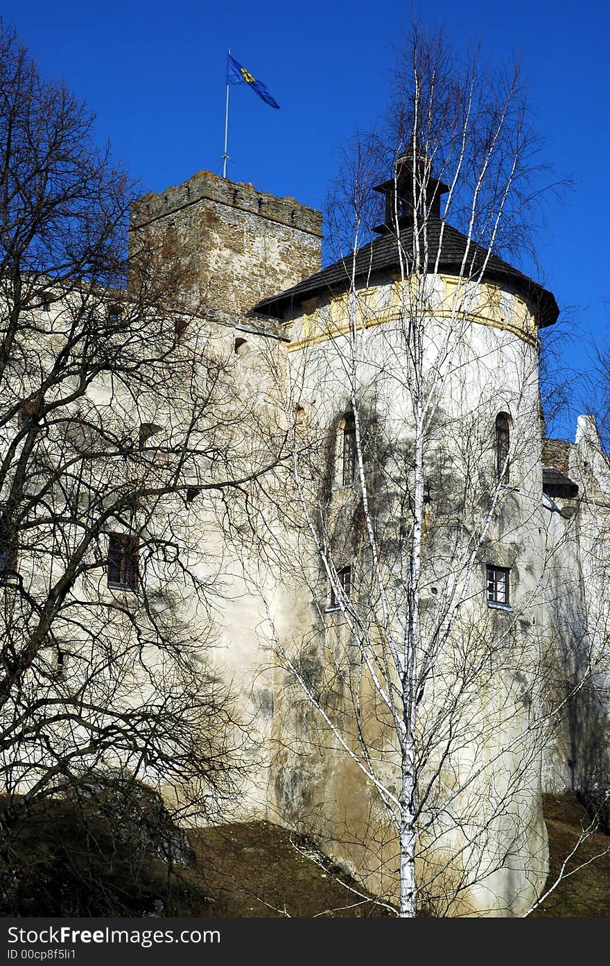
M 546 156 L 574 180 L 563 202 L 550 203 L 539 244 L 542 281 L 576 333 L 566 368 L 585 372 L 591 340 L 605 339 L 610 14 L 600 0 L 5 0 L 2 14 L 42 73 L 63 78 L 97 112 L 99 139 L 110 139 L 144 189 L 222 171 L 230 46 L 282 109 L 232 87 L 228 176 L 315 207 L 340 146 L 385 107 L 411 14 L 442 25 L 458 49 L 480 42 L 494 63 L 516 58 Z M 568 416 L 558 430 L 573 433 Z

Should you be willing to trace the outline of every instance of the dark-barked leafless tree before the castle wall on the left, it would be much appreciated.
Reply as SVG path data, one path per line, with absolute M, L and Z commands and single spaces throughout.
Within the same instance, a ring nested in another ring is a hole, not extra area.
M 229 685 L 208 661 L 224 568 L 210 533 L 244 512 L 276 440 L 239 392 L 233 335 L 180 307 L 183 260 L 134 242 L 126 286 L 136 185 L 92 126 L 3 28 L 6 832 L 28 806 L 79 786 L 90 796 L 117 769 L 182 816 L 209 817 L 243 764 Z

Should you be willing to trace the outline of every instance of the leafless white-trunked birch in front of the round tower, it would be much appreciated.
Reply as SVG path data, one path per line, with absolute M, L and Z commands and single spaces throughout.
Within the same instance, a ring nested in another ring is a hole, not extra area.
M 257 306 L 292 340 L 288 601 L 275 561 L 260 581 L 275 801 L 402 916 L 510 915 L 544 884 L 541 750 L 566 707 L 542 646 L 558 310 L 498 254 L 531 240 L 541 169 L 516 71 L 414 32 L 396 91 L 332 198 L 341 257 Z

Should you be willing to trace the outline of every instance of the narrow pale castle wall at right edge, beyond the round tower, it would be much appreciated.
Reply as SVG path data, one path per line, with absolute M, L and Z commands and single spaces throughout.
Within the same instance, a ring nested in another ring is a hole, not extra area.
M 544 790 L 581 793 L 601 806 L 610 775 L 610 474 L 595 420 L 580 416 L 575 442 L 544 440 L 544 464 L 565 472 L 578 497 L 545 497 L 548 566 L 544 613 L 557 709 L 544 754 Z

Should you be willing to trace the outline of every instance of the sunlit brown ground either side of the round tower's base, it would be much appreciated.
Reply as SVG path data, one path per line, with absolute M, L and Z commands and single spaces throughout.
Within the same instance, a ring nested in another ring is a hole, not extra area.
M 544 812 L 554 881 L 562 861 L 588 819 L 571 796 L 545 796 Z M 198 829 L 191 840 L 197 866 L 183 873 L 189 908 L 175 914 L 213 917 L 388 915 L 350 893 L 332 875 L 294 848 L 311 850 L 302 839 L 269 822 Z M 569 875 L 534 916 L 610 916 L 610 838 L 594 833 L 579 848 Z M 340 877 L 347 881 L 345 875 Z M 183 899 L 184 900 L 184 899 Z

